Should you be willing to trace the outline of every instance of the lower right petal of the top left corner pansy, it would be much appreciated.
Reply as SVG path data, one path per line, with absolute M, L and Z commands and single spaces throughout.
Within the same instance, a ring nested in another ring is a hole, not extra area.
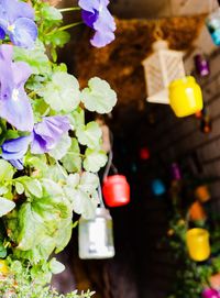
M 37 37 L 37 26 L 32 20 L 20 18 L 14 22 L 14 30 L 9 32 L 9 36 L 14 45 L 33 48 Z

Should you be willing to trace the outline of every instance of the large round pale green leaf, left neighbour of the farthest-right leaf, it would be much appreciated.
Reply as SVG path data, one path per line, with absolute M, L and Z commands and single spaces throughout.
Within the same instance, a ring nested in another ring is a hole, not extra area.
M 47 82 L 45 88 L 37 93 L 55 111 L 70 112 L 80 102 L 78 80 L 74 76 L 63 71 L 54 73 L 52 81 Z

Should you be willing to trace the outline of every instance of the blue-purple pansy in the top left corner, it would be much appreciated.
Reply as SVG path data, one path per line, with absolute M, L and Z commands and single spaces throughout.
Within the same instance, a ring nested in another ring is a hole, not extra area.
M 14 45 L 33 47 L 37 37 L 34 10 L 25 2 L 0 0 L 0 38 L 8 34 Z

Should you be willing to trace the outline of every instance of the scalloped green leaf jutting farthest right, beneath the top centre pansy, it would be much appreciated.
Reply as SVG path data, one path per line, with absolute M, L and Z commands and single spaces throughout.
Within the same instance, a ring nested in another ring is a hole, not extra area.
M 109 113 L 117 103 L 117 93 L 110 85 L 100 78 L 91 78 L 88 88 L 81 91 L 81 101 L 87 110 L 98 113 Z

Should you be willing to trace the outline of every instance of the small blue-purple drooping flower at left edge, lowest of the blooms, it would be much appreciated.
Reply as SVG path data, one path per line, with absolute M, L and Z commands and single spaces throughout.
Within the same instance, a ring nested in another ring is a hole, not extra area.
M 23 169 L 23 156 L 26 154 L 32 136 L 20 136 L 6 141 L 2 148 L 2 158 L 9 161 L 18 169 Z

